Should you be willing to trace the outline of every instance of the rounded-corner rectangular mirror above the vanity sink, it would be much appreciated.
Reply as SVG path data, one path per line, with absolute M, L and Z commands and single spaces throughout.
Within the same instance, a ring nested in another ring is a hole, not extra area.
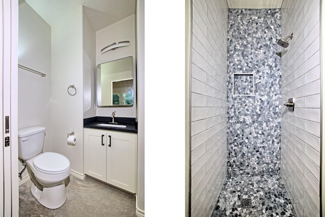
M 96 69 L 98 106 L 133 106 L 133 57 L 99 64 Z

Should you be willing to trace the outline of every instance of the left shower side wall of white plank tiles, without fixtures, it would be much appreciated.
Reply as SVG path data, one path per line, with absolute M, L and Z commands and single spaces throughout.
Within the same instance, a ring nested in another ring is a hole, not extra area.
M 226 176 L 226 0 L 192 1 L 191 216 L 211 216 Z

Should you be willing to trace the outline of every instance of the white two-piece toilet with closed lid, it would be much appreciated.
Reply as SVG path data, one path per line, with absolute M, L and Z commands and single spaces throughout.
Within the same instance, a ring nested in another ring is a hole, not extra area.
M 42 153 L 45 130 L 44 127 L 19 130 L 18 157 L 26 162 L 32 172 L 32 196 L 43 206 L 56 209 L 67 199 L 64 180 L 70 174 L 70 161 L 59 153 Z

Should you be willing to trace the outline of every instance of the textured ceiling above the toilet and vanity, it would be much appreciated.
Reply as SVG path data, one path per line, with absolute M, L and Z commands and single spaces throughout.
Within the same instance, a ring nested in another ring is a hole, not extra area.
M 25 0 L 49 25 L 83 5 L 94 29 L 100 30 L 135 13 L 136 0 Z

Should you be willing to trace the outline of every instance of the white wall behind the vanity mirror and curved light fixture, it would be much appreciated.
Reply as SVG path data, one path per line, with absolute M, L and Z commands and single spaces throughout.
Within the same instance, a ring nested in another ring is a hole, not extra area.
M 112 25 L 96 32 L 96 65 L 127 56 L 133 56 L 134 70 L 136 70 L 136 38 L 135 15 L 128 16 Z M 101 50 L 113 42 L 129 41 L 130 45 L 101 54 Z M 136 96 L 136 91 L 134 92 Z M 111 116 L 116 111 L 117 117 L 136 117 L 137 102 L 133 107 L 97 107 L 96 116 Z

